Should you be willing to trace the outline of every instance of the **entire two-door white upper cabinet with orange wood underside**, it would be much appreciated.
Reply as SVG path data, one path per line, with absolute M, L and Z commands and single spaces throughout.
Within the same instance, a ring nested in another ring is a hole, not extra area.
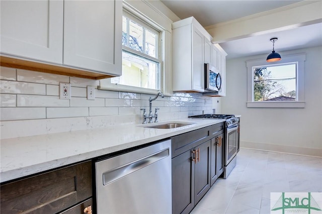
M 120 76 L 122 1 L 2 0 L 0 51 L 54 73 Z

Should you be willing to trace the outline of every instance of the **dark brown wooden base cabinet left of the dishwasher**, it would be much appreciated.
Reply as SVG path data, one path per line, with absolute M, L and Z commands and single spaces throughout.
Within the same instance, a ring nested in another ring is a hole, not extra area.
M 5 183 L 0 194 L 1 213 L 84 213 L 93 205 L 92 161 Z

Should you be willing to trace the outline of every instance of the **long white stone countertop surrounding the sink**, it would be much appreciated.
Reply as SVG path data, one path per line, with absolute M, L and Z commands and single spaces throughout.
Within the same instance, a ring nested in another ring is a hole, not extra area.
M 175 122 L 194 124 L 175 129 L 151 129 L 142 127 L 149 125 L 127 124 L 3 139 L 1 140 L 0 182 L 167 139 L 224 121 L 223 119 L 184 118 L 177 119 Z M 158 124 L 164 123 L 167 121 Z

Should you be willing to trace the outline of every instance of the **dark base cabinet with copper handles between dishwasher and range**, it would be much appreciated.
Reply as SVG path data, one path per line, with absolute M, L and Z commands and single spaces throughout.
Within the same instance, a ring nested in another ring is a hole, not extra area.
M 219 136 L 223 141 L 223 123 L 172 138 L 173 214 L 189 213 L 223 172 Z

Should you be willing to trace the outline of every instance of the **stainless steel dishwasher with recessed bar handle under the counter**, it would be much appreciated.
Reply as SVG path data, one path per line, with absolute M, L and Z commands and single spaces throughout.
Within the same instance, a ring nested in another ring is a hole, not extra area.
M 171 140 L 95 166 L 98 214 L 171 213 Z

